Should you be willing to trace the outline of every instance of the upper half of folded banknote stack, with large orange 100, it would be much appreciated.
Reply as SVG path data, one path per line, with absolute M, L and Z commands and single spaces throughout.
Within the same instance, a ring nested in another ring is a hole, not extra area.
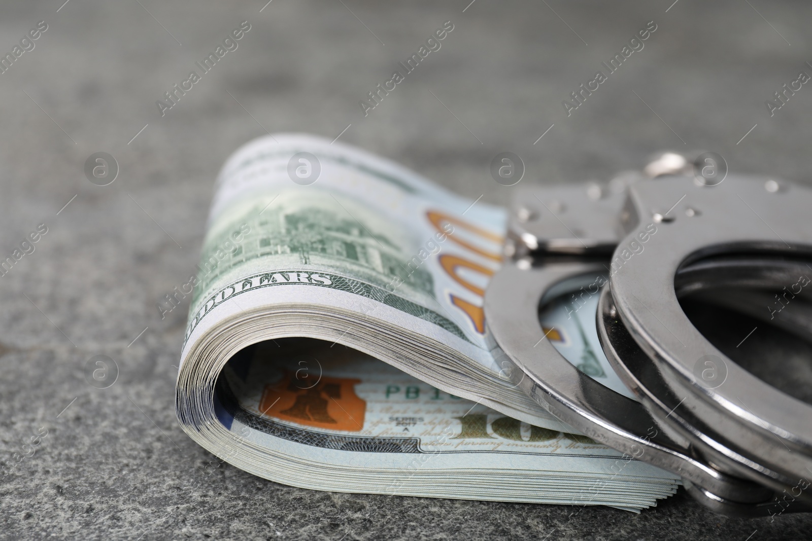
M 564 426 L 522 393 L 486 342 L 502 208 L 466 200 L 368 152 L 270 135 L 218 178 L 181 359 L 216 373 L 279 337 L 351 346 L 514 419 Z

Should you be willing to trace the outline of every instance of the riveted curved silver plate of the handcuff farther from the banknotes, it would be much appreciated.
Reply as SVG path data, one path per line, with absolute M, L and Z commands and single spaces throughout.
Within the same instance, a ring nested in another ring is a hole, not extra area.
M 655 391 L 654 382 L 647 380 L 638 385 L 641 394 L 662 407 L 670 405 L 674 426 L 692 435 L 695 444 L 701 441 L 702 452 L 718 466 L 778 490 L 808 486 L 812 406 L 765 384 L 703 337 L 680 307 L 675 276 L 692 261 L 732 252 L 765 260 L 812 259 L 812 221 L 805 219 L 812 191 L 787 185 L 767 191 L 762 178 L 728 178 L 715 187 L 673 178 L 656 189 L 639 183 L 630 188 L 629 200 L 637 227 L 613 255 L 611 295 L 619 319 L 650 359 L 646 374 L 656 373 L 670 391 Z M 659 225 L 645 255 L 624 261 L 624 243 L 646 230 L 650 209 L 658 206 L 673 208 L 676 220 Z M 685 208 L 702 208 L 702 213 L 688 217 Z M 749 279 L 780 289 L 790 277 L 782 272 Z M 797 276 L 791 280 L 784 286 L 797 285 Z M 767 307 L 764 311 L 769 313 Z M 719 359 L 727 374 L 721 384 L 710 388 L 696 376 L 702 359 Z M 676 400 L 666 403 L 667 396 Z M 797 497 L 812 503 L 807 491 Z

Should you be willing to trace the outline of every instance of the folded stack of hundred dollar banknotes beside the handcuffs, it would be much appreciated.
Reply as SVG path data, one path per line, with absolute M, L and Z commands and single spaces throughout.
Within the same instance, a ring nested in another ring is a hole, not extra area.
M 317 490 L 630 511 L 672 495 L 676 475 L 555 419 L 495 359 L 482 296 L 505 222 L 329 140 L 240 148 L 193 277 L 184 431 L 252 474 Z M 615 384 L 594 324 L 553 307 L 542 325 Z

